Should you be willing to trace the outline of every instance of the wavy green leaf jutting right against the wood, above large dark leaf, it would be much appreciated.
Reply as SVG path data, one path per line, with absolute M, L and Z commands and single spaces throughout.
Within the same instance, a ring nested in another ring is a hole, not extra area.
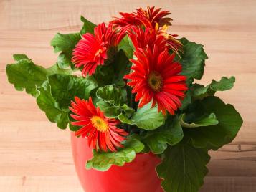
M 217 82 L 212 80 L 211 84 L 204 87 L 203 85 L 195 84 L 193 86 L 193 96 L 198 98 L 204 98 L 207 96 L 212 96 L 217 91 L 230 90 L 234 86 L 235 78 L 232 76 L 230 78 L 222 77 L 222 79 Z

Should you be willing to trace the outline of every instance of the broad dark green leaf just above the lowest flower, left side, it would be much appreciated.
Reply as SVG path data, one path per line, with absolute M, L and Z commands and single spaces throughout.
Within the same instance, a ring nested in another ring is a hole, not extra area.
M 87 100 L 90 92 L 97 87 L 97 83 L 92 77 L 77 77 L 75 75 L 49 75 L 49 85 L 51 86 L 52 97 L 61 109 L 67 110 L 70 101 L 77 96 Z

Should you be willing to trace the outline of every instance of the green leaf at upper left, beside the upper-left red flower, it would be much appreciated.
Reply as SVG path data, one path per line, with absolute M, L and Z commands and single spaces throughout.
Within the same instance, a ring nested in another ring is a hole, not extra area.
M 60 68 L 73 67 L 71 62 L 72 52 L 77 42 L 81 39 L 79 33 L 75 34 L 60 34 L 57 33 L 51 41 L 54 47 L 54 52 L 61 52 L 57 64 Z

